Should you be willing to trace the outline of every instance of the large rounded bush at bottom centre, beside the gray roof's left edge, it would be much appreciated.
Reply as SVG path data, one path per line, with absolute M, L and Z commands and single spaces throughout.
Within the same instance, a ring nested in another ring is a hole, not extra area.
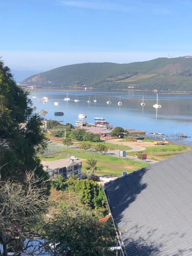
M 110 250 L 116 237 L 112 220 L 100 222 L 80 204 L 68 204 L 55 214 L 47 233 L 57 255 L 114 255 Z

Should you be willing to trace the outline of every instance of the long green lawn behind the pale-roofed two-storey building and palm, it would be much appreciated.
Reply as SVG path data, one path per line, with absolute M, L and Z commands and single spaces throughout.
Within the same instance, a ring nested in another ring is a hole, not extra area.
M 106 155 L 96 155 L 92 152 L 84 152 L 80 150 L 74 150 L 72 148 L 63 148 L 62 152 L 53 155 L 48 155 L 46 157 L 41 158 L 41 160 L 54 161 L 62 158 L 69 158 L 72 155 L 82 160 L 82 172 L 84 172 L 86 169 L 87 159 L 96 159 L 98 161 L 97 166 L 101 169 L 100 171 L 98 170 L 98 175 L 121 176 L 122 172 L 131 173 L 134 170 L 146 166 L 146 164 L 134 160 L 121 159 Z

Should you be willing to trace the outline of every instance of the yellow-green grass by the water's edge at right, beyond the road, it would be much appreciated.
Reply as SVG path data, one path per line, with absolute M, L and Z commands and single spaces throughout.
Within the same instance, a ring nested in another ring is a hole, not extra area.
M 186 146 L 181 145 L 164 145 L 164 146 L 153 146 L 146 147 L 143 151 L 147 154 L 148 159 L 161 161 L 167 159 L 169 157 L 175 156 L 177 154 L 181 154 L 187 151 Z M 135 156 L 137 152 L 129 152 L 127 155 Z

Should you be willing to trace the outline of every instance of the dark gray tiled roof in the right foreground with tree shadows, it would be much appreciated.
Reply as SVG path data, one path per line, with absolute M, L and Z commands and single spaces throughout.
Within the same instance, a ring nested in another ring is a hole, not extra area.
M 128 256 L 192 255 L 192 150 L 104 189 Z

